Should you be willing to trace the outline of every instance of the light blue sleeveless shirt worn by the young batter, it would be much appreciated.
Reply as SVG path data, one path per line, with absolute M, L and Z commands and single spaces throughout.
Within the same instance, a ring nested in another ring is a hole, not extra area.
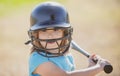
M 73 71 L 75 68 L 74 60 L 71 54 L 48 58 L 40 55 L 37 52 L 33 52 L 30 55 L 30 59 L 29 59 L 29 76 L 40 76 L 38 74 L 33 74 L 34 70 L 39 65 L 49 61 L 54 63 L 56 66 L 58 66 L 64 71 L 68 71 L 68 72 Z

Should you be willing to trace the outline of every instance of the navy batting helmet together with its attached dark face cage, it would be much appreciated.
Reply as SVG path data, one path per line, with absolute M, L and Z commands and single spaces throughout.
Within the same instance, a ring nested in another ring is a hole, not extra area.
M 39 30 L 44 30 L 47 28 L 54 29 L 64 29 L 64 36 L 57 39 L 39 39 L 37 37 Z M 30 29 L 28 35 L 30 37 L 31 44 L 33 45 L 34 50 L 39 54 L 47 57 L 56 57 L 61 56 L 66 53 L 69 49 L 71 40 L 72 40 L 72 27 L 69 23 L 68 12 L 64 6 L 56 2 L 44 2 L 37 5 L 30 16 Z M 61 44 L 58 44 L 58 40 L 61 40 Z M 41 41 L 47 43 L 52 41 L 56 42 L 58 47 L 56 48 L 47 48 L 41 45 Z M 57 50 L 57 53 L 51 53 L 46 50 Z M 43 52 L 45 54 L 43 54 Z

